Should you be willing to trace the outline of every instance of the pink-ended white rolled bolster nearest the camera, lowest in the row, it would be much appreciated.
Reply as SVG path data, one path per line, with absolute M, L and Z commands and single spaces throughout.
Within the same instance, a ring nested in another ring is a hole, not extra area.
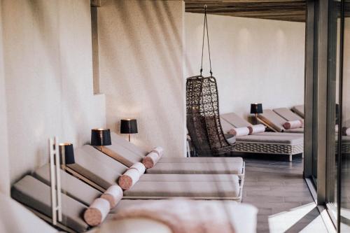
M 84 220 L 90 226 L 100 225 L 109 213 L 109 202 L 102 198 L 94 199 L 94 202 L 84 213 Z

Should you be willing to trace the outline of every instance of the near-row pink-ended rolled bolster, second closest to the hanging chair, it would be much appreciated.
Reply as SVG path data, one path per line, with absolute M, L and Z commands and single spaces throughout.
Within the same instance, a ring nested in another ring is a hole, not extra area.
M 125 173 L 120 176 L 118 180 L 118 184 L 120 188 L 123 188 L 123 190 L 129 190 L 134 186 L 137 181 L 139 181 L 139 178 L 142 174 L 144 174 L 146 171 L 146 167 L 144 164 L 141 164 L 141 162 L 137 162 L 136 164 L 133 164 L 132 167 L 127 169 Z

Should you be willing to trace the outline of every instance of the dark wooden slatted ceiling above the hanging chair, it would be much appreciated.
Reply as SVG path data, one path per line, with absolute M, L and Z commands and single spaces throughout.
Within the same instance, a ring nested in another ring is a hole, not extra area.
M 305 22 L 306 0 L 185 0 L 186 12 Z

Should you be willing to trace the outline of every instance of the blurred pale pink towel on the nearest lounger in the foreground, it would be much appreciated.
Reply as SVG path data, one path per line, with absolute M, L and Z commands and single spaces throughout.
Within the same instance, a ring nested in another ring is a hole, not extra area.
M 149 218 L 164 223 L 173 233 L 234 233 L 225 207 L 218 201 L 157 200 L 128 206 L 118 211 L 114 218 Z

